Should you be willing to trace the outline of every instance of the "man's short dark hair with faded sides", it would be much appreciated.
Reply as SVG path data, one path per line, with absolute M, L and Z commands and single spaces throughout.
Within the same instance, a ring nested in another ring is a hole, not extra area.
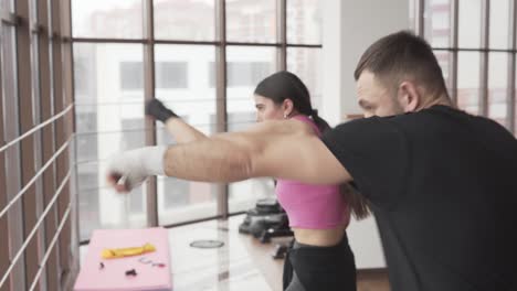
M 397 89 L 408 79 L 433 97 L 449 96 L 433 50 L 425 40 L 409 31 L 389 34 L 370 45 L 357 64 L 356 80 L 365 71 L 373 73 L 389 89 Z

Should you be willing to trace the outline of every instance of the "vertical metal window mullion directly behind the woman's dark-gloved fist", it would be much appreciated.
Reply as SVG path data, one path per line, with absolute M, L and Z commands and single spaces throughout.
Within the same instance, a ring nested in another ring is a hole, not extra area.
M 155 98 L 155 8 L 154 1 L 145 1 L 144 9 L 146 43 L 144 44 L 144 100 Z M 145 120 L 146 146 L 156 144 L 156 121 L 146 118 Z M 156 176 L 147 182 L 147 224 L 158 226 L 158 187 Z

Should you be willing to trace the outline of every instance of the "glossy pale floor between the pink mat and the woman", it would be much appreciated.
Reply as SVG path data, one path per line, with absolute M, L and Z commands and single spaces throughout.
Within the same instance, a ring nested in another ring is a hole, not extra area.
M 239 234 L 243 216 L 228 222 L 210 220 L 169 229 L 172 285 L 175 291 L 281 291 L 283 260 L 274 260 L 276 238 L 271 244 Z M 213 249 L 190 247 L 194 240 L 217 240 Z M 87 246 L 81 248 L 83 259 Z M 358 272 L 358 291 L 390 291 L 384 270 Z

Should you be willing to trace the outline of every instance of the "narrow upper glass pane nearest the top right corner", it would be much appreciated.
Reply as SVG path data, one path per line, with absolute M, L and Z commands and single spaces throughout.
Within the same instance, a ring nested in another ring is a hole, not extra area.
M 508 48 L 509 39 L 509 0 L 490 1 L 490 42 L 493 48 Z

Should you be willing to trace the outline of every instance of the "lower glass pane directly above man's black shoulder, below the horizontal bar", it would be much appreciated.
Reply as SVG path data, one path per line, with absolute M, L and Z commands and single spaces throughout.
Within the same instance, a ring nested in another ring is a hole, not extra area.
M 457 54 L 457 106 L 473 115 L 479 112 L 479 53 Z

